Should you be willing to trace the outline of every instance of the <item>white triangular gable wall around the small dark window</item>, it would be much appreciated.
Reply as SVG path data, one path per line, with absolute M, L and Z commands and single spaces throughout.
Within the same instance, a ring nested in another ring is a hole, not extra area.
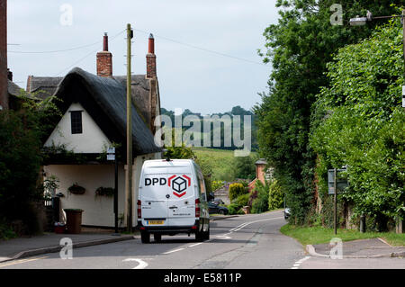
M 83 111 L 82 123 L 83 133 L 72 134 L 70 112 Z M 45 142 L 45 147 L 51 147 L 62 144 L 66 145 L 67 150 L 73 150 L 75 153 L 101 153 L 111 145 L 110 140 L 104 135 L 92 117 L 85 111 L 80 103 L 72 103 L 57 127 Z

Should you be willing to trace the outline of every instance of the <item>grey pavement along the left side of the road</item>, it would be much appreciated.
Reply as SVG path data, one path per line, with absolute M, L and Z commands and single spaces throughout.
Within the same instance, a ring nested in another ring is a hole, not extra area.
M 218 215 L 212 216 L 211 220 L 225 220 L 238 215 Z M 60 239 L 70 238 L 73 248 L 91 247 L 94 245 L 108 244 L 124 240 L 137 238 L 139 232 L 134 234 L 116 235 L 111 229 L 92 229 L 82 227 L 80 234 L 56 234 L 45 232 L 39 236 L 13 238 L 0 240 L 0 262 L 16 260 L 29 256 L 38 256 L 41 254 L 59 252 L 64 245 L 61 245 Z

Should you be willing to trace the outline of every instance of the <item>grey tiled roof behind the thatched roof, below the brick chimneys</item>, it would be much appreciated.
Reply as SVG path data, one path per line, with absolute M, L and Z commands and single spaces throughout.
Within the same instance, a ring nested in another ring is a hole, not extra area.
M 112 76 L 126 89 L 127 76 Z M 58 85 L 62 82 L 62 76 L 29 76 L 27 81 L 27 92 L 35 93 L 36 97 L 40 99 L 46 99 L 47 97 L 55 94 Z M 135 104 L 139 116 L 148 126 L 151 124 L 150 112 L 150 80 L 145 75 L 133 75 L 131 76 L 131 96 L 132 103 Z

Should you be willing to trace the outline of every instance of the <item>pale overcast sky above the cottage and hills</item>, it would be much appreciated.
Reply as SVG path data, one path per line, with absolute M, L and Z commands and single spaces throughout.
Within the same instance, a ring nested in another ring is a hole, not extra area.
M 263 31 L 277 22 L 275 0 L 7 2 L 8 67 L 23 88 L 28 75 L 65 76 L 72 67 L 95 74 L 95 54 L 103 48 L 104 31 L 110 39 L 113 75 L 126 75 L 123 31 L 130 23 L 136 29 L 133 74 L 146 73 L 148 33 L 155 36 L 161 106 L 166 109 L 188 108 L 203 114 L 227 112 L 235 105 L 251 109 L 260 101 L 257 93 L 267 90 L 271 66 L 261 64 L 257 49 L 264 46 Z M 47 52 L 90 44 L 94 45 Z

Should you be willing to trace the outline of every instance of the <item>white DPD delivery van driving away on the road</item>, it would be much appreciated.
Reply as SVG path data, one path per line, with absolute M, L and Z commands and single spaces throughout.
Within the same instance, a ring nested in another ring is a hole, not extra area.
M 139 181 L 138 226 L 142 243 L 162 235 L 210 238 L 210 215 L 200 166 L 191 159 L 147 160 Z

